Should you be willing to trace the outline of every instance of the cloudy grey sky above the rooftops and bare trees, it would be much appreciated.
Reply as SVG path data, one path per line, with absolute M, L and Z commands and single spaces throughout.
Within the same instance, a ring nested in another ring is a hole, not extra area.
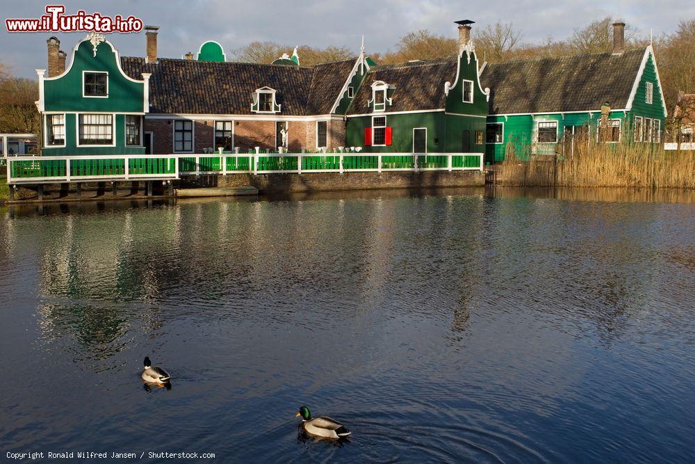
M 571 35 L 606 16 L 619 17 L 648 36 L 669 33 L 682 19 L 695 17 L 695 2 L 682 0 L 582 0 L 511 2 L 496 0 L 167 0 L 102 1 L 65 0 L 66 14 L 83 9 L 113 17 L 135 15 L 145 24 L 160 26 L 159 55 L 181 57 L 197 51 L 205 40 L 222 44 L 227 56 L 253 40 L 272 40 L 288 45 L 347 46 L 359 49 L 365 35 L 367 51 L 393 49 L 402 35 L 429 29 L 456 37 L 453 21 L 474 19 L 474 27 L 497 21 L 513 22 L 526 42 Z M 44 14 L 46 2 L 3 0 L 6 18 L 33 18 Z M 475 42 L 475 29 L 473 31 Z M 68 51 L 84 33 L 60 33 L 61 48 Z M 114 34 L 111 42 L 124 56 L 144 56 L 145 35 Z M 0 32 L 0 61 L 15 74 L 35 77 L 35 68 L 46 67 L 47 33 Z M 291 50 L 288 50 L 291 52 Z

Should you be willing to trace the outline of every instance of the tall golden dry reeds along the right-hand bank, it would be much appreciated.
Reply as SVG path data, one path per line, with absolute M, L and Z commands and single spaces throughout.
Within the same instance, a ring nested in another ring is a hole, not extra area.
M 650 187 L 695 189 L 695 152 L 665 151 L 649 144 L 591 144 L 571 156 L 496 166 L 496 182 L 509 186 Z

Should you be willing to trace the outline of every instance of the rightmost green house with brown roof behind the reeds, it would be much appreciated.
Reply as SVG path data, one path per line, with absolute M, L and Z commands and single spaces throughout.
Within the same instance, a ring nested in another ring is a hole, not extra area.
M 571 153 L 578 143 L 660 143 L 667 110 L 652 47 L 486 65 L 486 161 Z M 602 108 L 604 115 L 602 117 Z

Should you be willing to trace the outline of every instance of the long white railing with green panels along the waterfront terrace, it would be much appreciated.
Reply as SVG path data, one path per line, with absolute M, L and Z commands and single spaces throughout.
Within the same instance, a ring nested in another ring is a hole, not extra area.
M 256 150 L 245 154 L 108 154 L 5 159 L 8 184 L 40 184 L 179 179 L 181 175 L 482 170 L 484 156 L 482 153 L 261 153 Z

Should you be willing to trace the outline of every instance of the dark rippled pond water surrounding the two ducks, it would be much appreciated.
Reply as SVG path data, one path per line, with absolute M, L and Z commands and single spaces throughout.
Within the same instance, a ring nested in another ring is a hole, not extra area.
M 552 196 L 2 209 L 3 459 L 692 462 L 695 205 Z

